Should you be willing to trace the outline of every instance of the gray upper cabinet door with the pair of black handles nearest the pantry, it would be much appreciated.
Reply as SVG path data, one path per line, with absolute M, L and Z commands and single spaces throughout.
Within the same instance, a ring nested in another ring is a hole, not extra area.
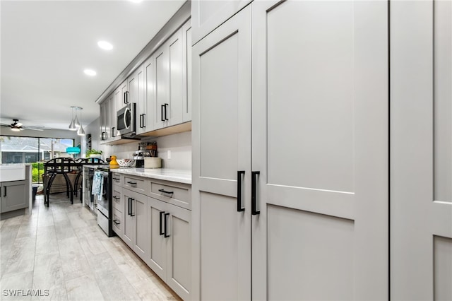
M 155 107 L 154 129 L 162 129 L 168 125 L 169 116 L 169 58 L 166 44 L 155 52 Z M 166 114 L 165 114 L 166 112 Z

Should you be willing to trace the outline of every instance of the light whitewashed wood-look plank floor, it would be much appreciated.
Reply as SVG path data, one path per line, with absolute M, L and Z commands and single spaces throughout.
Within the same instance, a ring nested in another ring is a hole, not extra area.
M 0 300 L 180 300 L 65 194 L 48 208 L 37 196 L 31 215 L 0 221 L 0 277 Z

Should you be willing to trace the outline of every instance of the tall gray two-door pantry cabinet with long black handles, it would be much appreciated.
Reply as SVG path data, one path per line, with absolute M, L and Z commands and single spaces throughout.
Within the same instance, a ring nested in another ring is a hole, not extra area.
M 245 2 L 192 3 L 192 298 L 384 300 L 388 6 Z

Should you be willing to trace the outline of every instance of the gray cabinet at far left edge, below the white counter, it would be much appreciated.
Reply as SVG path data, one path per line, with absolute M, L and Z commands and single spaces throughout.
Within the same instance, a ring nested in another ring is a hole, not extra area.
M 1 182 L 1 213 L 28 207 L 27 182 Z

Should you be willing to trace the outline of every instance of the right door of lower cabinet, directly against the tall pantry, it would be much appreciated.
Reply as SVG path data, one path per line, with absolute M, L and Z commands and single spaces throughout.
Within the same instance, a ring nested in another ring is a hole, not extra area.
M 171 213 L 167 218 L 167 278 L 174 292 L 189 300 L 191 290 L 191 212 L 167 204 Z

